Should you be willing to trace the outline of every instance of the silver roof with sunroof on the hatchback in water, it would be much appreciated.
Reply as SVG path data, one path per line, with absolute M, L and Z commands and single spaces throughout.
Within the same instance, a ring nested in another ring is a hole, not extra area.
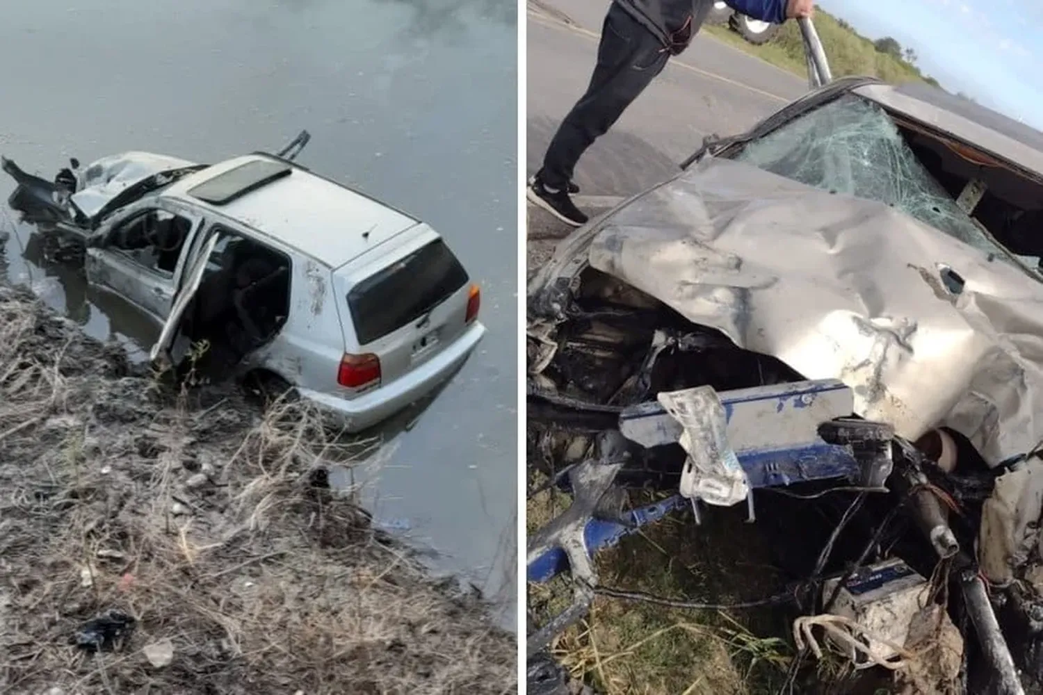
M 247 154 L 213 165 L 186 176 L 162 193 L 194 207 L 218 214 L 260 231 L 314 259 L 340 266 L 388 241 L 419 221 L 362 193 L 319 176 L 304 167 L 290 167 L 286 175 L 269 177 L 240 195 L 215 204 L 192 191 L 244 165 L 282 163 L 278 157 Z M 233 175 L 234 176 L 234 175 Z M 225 177 L 228 178 L 228 177 Z

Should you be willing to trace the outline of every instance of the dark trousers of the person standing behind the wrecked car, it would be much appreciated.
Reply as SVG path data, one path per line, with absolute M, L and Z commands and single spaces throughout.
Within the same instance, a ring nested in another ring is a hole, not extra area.
M 540 179 L 564 189 L 593 141 L 604 135 L 627 106 L 666 67 L 670 53 L 655 35 L 615 3 L 605 16 L 598 65 L 590 85 L 561 122 L 543 156 Z

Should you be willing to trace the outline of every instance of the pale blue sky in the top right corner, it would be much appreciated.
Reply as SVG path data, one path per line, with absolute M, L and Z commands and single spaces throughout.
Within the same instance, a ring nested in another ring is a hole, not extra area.
M 892 36 L 949 92 L 1043 130 L 1040 0 L 819 0 L 876 40 Z

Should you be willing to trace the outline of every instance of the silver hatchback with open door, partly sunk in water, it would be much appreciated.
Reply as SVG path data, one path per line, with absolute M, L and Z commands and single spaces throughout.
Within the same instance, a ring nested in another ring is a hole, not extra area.
M 429 225 L 294 164 L 308 140 L 214 165 L 72 160 L 53 182 L 2 168 L 23 219 L 82 242 L 88 281 L 162 326 L 153 361 L 292 388 L 358 431 L 454 374 L 481 295 Z

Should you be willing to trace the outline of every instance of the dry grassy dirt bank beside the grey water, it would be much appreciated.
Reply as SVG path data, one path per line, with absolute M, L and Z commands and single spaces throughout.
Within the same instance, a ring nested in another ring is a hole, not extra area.
M 171 394 L 0 288 L 0 691 L 516 693 L 515 636 L 330 489 L 365 445 L 312 415 Z

